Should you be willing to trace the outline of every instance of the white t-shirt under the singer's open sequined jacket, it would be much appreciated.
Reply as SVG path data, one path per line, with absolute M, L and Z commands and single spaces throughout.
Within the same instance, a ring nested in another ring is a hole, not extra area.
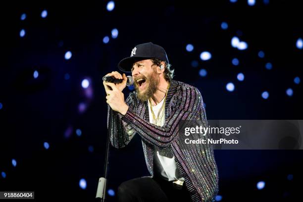
M 161 110 L 164 100 L 160 101 L 157 105 L 152 106 L 153 113 L 155 117 L 159 117 L 162 115 L 161 120 L 157 124 L 158 126 L 163 126 L 165 122 L 165 109 Z M 150 114 L 150 123 L 153 123 L 152 118 L 152 111 L 151 111 L 151 104 L 150 101 L 148 101 L 149 104 L 149 114 Z M 163 114 L 162 114 L 163 113 Z M 181 180 L 184 181 L 184 178 L 182 177 L 180 171 L 178 170 L 175 156 L 172 153 L 170 147 L 167 148 L 158 148 L 154 146 L 154 173 L 158 173 L 163 179 L 167 181 L 175 181 L 175 180 Z

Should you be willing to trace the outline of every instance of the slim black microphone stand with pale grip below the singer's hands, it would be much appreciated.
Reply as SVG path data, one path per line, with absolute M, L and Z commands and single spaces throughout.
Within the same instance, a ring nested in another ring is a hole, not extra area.
M 100 198 L 101 202 L 105 202 L 106 195 L 106 184 L 107 184 L 107 167 L 109 159 L 109 148 L 110 148 L 110 131 L 111 131 L 111 120 L 112 120 L 112 109 L 109 112 L 109 125 L 107 129 L 107 138 L 106 138 L 106 152 L 105 152 L 105 162 L 104 162 L 104 177 L 99 178 L 98 188 L 96 198 Z

